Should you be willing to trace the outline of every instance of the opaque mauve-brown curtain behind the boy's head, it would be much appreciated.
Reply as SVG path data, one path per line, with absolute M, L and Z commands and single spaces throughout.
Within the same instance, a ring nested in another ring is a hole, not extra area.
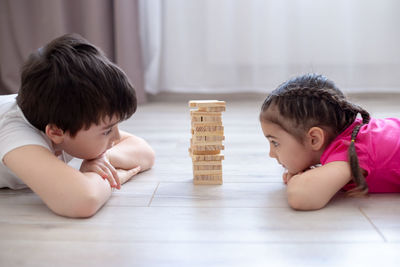
M 20 67 L 50 40 L 78 33 L 100 47 L 146 101 L 136 0 L 1 0 L 0 94 L 16 93 Z

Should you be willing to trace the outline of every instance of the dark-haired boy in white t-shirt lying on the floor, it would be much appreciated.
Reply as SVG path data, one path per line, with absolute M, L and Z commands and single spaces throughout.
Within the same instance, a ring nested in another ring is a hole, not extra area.
M 143 139 L 118 129 L 135 111 L 128 78 L 98 48 L 53 40 L 23 66 L 18 96 L 0 96 L 0 188 L 28 186 L 59 215 L 92 216 L 154 163 Z

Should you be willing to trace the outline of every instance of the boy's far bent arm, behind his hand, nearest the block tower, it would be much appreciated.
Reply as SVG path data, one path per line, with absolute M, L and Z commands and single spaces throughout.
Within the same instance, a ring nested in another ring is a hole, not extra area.
M 142 138 L 120 131 L 121 138 L 107 151 L 107 157 L 115 168 L 129 170 L 140 166 L 141 171 L 154 164 L 154 151 Z

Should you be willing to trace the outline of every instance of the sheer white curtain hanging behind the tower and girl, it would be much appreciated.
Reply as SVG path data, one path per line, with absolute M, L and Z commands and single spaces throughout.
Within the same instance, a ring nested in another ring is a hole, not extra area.
M 266 92 L 322 73 L 400 92 L 400 1 L 140 0 L 149 93 Z

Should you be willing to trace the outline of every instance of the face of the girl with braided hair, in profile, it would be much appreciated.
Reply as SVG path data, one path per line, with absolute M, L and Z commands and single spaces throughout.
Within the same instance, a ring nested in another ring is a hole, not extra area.
M 264 136 L 270 144 L 269 156 L 275 158 L 289 173 L 297 174 L 319 163 L 315 152 L 305 143 L 299 142 L 278 124 L 261 121 Z

